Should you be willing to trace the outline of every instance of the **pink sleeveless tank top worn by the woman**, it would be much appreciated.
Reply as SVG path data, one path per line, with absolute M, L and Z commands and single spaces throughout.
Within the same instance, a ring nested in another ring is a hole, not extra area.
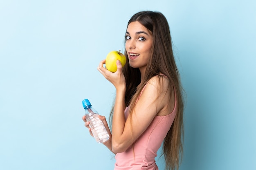
M 124 111 L 126 119 L 129 115 L 129 108 L 130 106 Z M 114 170 L 158 170 L 155 163 L 157 150 L 171 128 L 176 112 L 175 94 L 175 106 L 172 113 L 166 116 L 155 116 L 148 128 L 135 141 L 134 152 L 130 146 L 125 152 L 117 153 Z

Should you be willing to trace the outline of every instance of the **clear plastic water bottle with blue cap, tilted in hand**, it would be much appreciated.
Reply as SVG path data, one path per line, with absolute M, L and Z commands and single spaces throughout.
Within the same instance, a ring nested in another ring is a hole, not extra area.
M 92 108 L 88 99 L 83 100 L 83 108 L 85 109 L 86 121 L 89 121 L 89 127 L 92 129 L 92 134 L 96 141 L 101 144 L 109 139 L 108 132 L 103 124 L 103 121 L 99 119 L 99 113 Z

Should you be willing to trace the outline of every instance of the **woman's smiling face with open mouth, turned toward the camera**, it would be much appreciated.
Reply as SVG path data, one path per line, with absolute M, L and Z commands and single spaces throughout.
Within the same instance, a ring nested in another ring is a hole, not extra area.
M 138 21 L 131 22 L 127 27 L 126 39 L 130 66 L 145 71 L 153 44 L 151 31 Z

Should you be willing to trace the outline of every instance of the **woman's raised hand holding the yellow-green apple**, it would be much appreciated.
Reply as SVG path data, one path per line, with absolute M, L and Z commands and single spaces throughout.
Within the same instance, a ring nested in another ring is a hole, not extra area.
M 102 60 L 99 63 L 98 70 L 99 72 L 109 81 L 111 82 L 115 88 L 119 87 L 125 87 L 126 86 L 126 81 L 124 74 L 122 72 L 122 65 L 119 60 L 117 60 L 117 71 L 115 73 L 112 73 L 111 71 L 108 71 L 106 68 L 103 67 L 103 64 L 106 63 L 106 59 Z

